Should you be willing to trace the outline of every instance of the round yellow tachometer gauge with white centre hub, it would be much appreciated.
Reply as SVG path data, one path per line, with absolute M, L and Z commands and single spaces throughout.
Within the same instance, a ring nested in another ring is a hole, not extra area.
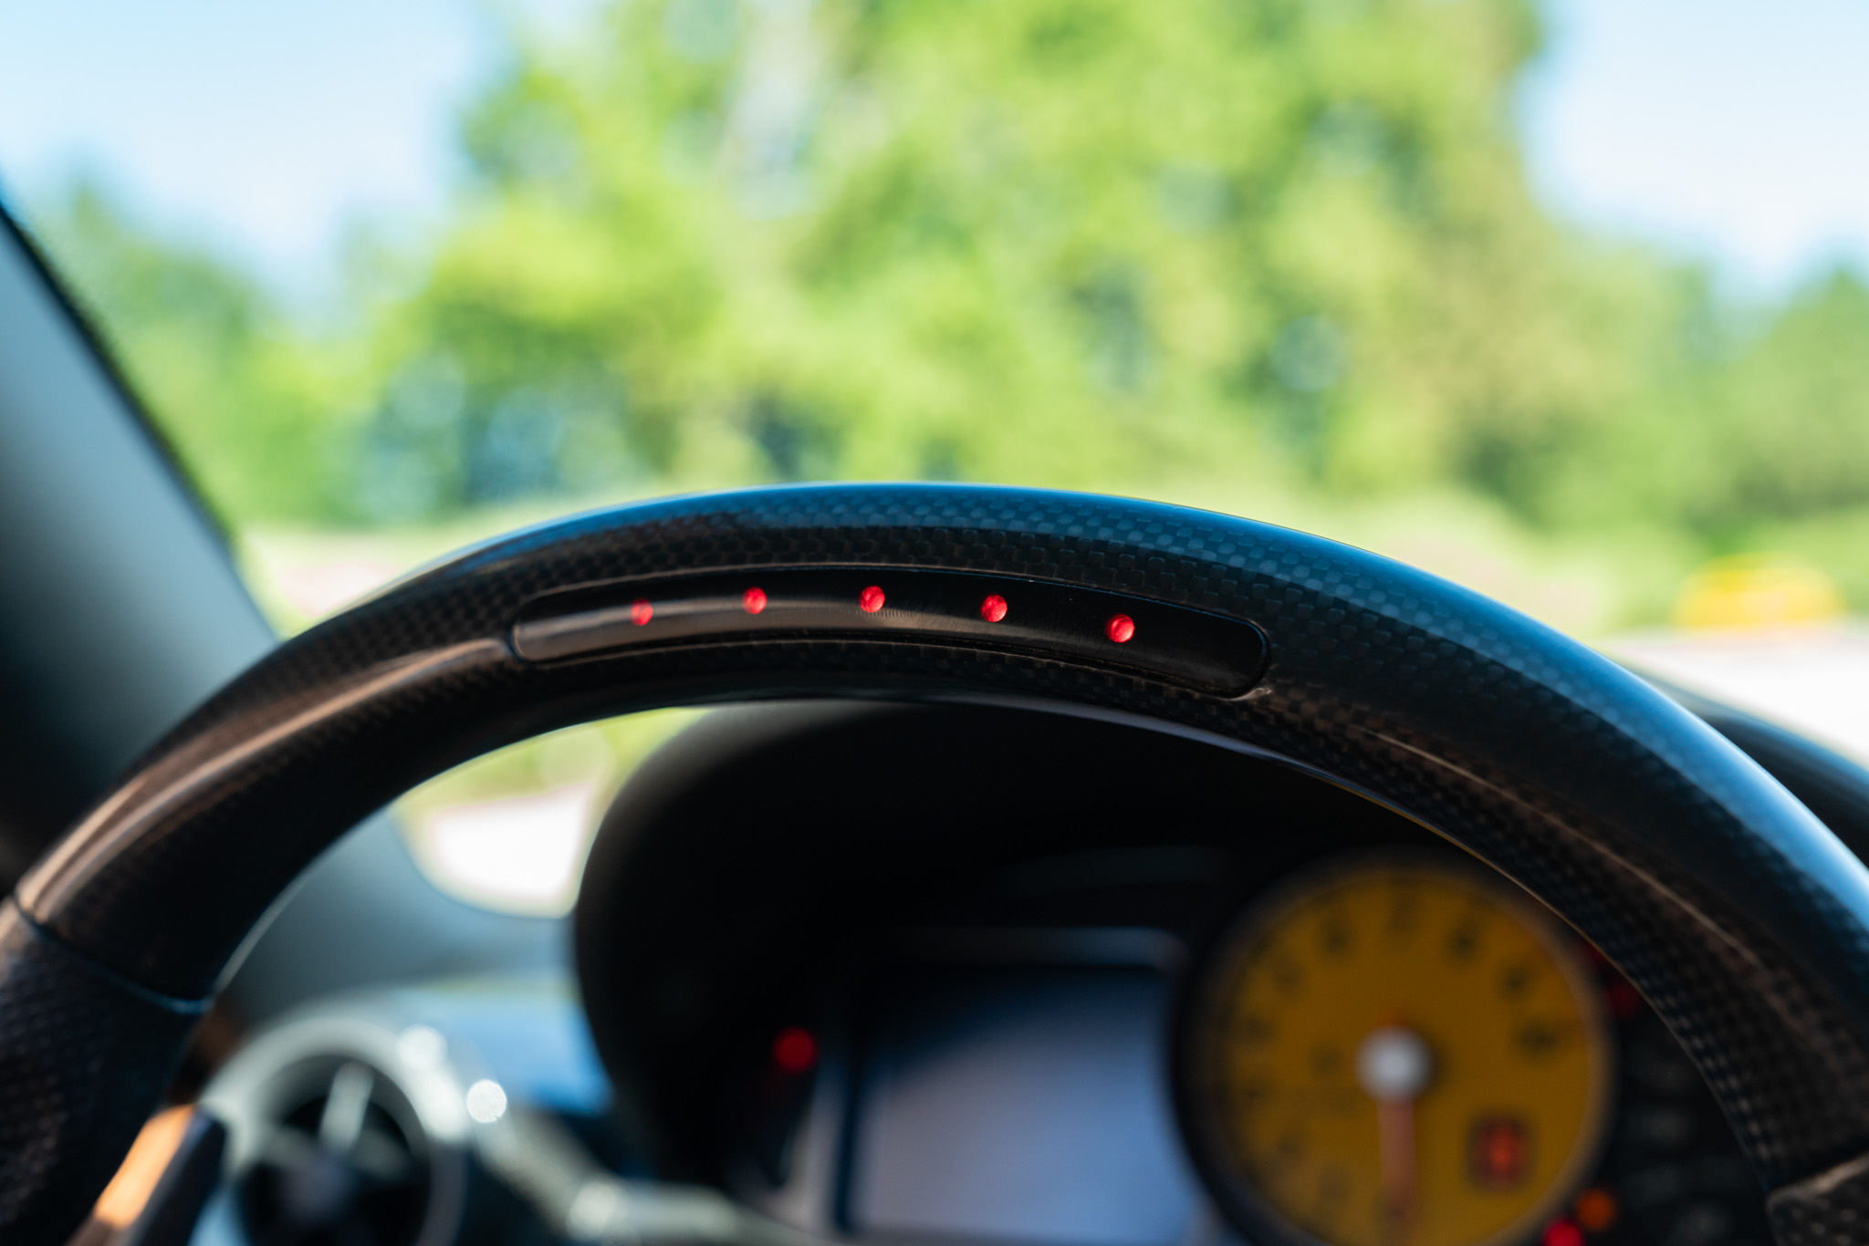
M 1250 908 L 1194 984 L 1183 1110 L 1258 1240 L 1508 1246 L 1576 1194 L 1611 1042 L 1577 940 L 1458 861 Z

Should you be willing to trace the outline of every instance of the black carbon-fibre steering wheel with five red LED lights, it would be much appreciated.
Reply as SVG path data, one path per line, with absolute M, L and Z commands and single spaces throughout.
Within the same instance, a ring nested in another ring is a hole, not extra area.
M 1869 1239 L 1869 871 L 1762 770 L 1587 648 L 1376 555 L 970 486 L 751 489 L 523 531 L 234 680 L 0 912 L 0 1239 L 65 1240 L 243 943 L 364 814 L 576 721 L 813 695 L 1121 717 L 1404 813 L 1648 998 L 1779 1242 Z

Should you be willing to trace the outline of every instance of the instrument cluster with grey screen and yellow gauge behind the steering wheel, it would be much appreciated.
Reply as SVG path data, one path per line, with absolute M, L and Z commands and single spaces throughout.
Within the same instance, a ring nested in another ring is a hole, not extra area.
M 1641 998 L 1430 846 L 1327 854 L 1204 943 L 873 932 L 744 1085 L 735 1192 L 863 1240 L 1770 1242 Z

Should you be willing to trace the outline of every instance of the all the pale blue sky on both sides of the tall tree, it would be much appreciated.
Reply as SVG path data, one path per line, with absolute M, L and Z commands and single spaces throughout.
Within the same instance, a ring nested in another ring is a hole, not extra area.
M 1462 0 L 1447 0 L 1462 2 Z M 495 11 L 589 0 L 0 0 L 0 185 L 95 170 L 288 280 L 363 215 L 419 228 Z M 1869 269 L 1869 0 L 1548 0 L 1527 82 L 1555 209 L 1783 290 Z

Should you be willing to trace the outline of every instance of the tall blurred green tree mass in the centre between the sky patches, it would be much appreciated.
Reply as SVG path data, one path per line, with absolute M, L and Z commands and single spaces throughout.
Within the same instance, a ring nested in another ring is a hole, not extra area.
M 462 377 L 449 501 L 624 460 L 1510 495 L 1628 383 L 1523 187 L 1534 45 L 1518 0 L 621 6 L 477 105 L 385 340 Z

